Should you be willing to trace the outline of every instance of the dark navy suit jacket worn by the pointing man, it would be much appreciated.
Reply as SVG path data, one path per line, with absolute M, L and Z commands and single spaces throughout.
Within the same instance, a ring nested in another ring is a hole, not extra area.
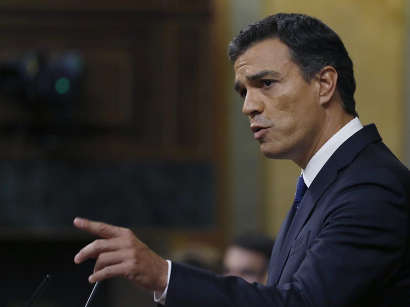
M 410 171 L 365 126 L 286 216 L 267 286 L 173 262 L 166 306 L 410 306 L 409 199 Z

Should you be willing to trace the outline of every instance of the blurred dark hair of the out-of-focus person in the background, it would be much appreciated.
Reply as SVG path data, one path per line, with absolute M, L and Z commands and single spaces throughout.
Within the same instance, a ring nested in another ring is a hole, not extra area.
M 247 233 L 235 237 L 230 246 L 237 246 L 244 250 L 263 254 L 269 263 L 274 242 L 273 239 L 263 234 Z

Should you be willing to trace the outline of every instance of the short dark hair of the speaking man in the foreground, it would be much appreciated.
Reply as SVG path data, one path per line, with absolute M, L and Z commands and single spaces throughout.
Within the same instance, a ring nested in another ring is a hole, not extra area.
M 317 18 L 304 14 L 271 15 L 241 30 L 234 37 L 228 47 L 230 61 L 235 62 L 254 44 L 271 38 L 277 38 L 288 46 L 290 59 L 299 66 L 308 83 L 323 67 L 333 66 L 338 74 L 337 90 L 343 108 L 347 114 L 358 116 L 353 63 L 335 31 Z

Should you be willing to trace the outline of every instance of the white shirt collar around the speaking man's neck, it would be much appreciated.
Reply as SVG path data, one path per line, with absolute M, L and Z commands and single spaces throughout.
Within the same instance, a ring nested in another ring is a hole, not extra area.
M 344 143 L 348 138 L 353 136 L 357 131 L 363 128 L 359 118 L 354 118 L 346 125 L 344 125 L 339 131 L 337 131 L 332 138 L 330 138 L 306 165 L 305 169 L 302 169 L 303 180 L 306 186 L 310 186 L 315 179 L 316 175 L 322 169 L 323 165 L 329 160 L 337 148 Z

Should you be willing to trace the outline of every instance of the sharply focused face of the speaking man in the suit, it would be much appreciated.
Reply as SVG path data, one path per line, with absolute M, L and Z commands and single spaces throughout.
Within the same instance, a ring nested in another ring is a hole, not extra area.
M 235 89 L 263 155 L 304 168 L 320 138 L 325 111 L 319 103 L 320 79 L 307 83 L 289 52 L 279 39 L 250 47 L 235 62 Z

